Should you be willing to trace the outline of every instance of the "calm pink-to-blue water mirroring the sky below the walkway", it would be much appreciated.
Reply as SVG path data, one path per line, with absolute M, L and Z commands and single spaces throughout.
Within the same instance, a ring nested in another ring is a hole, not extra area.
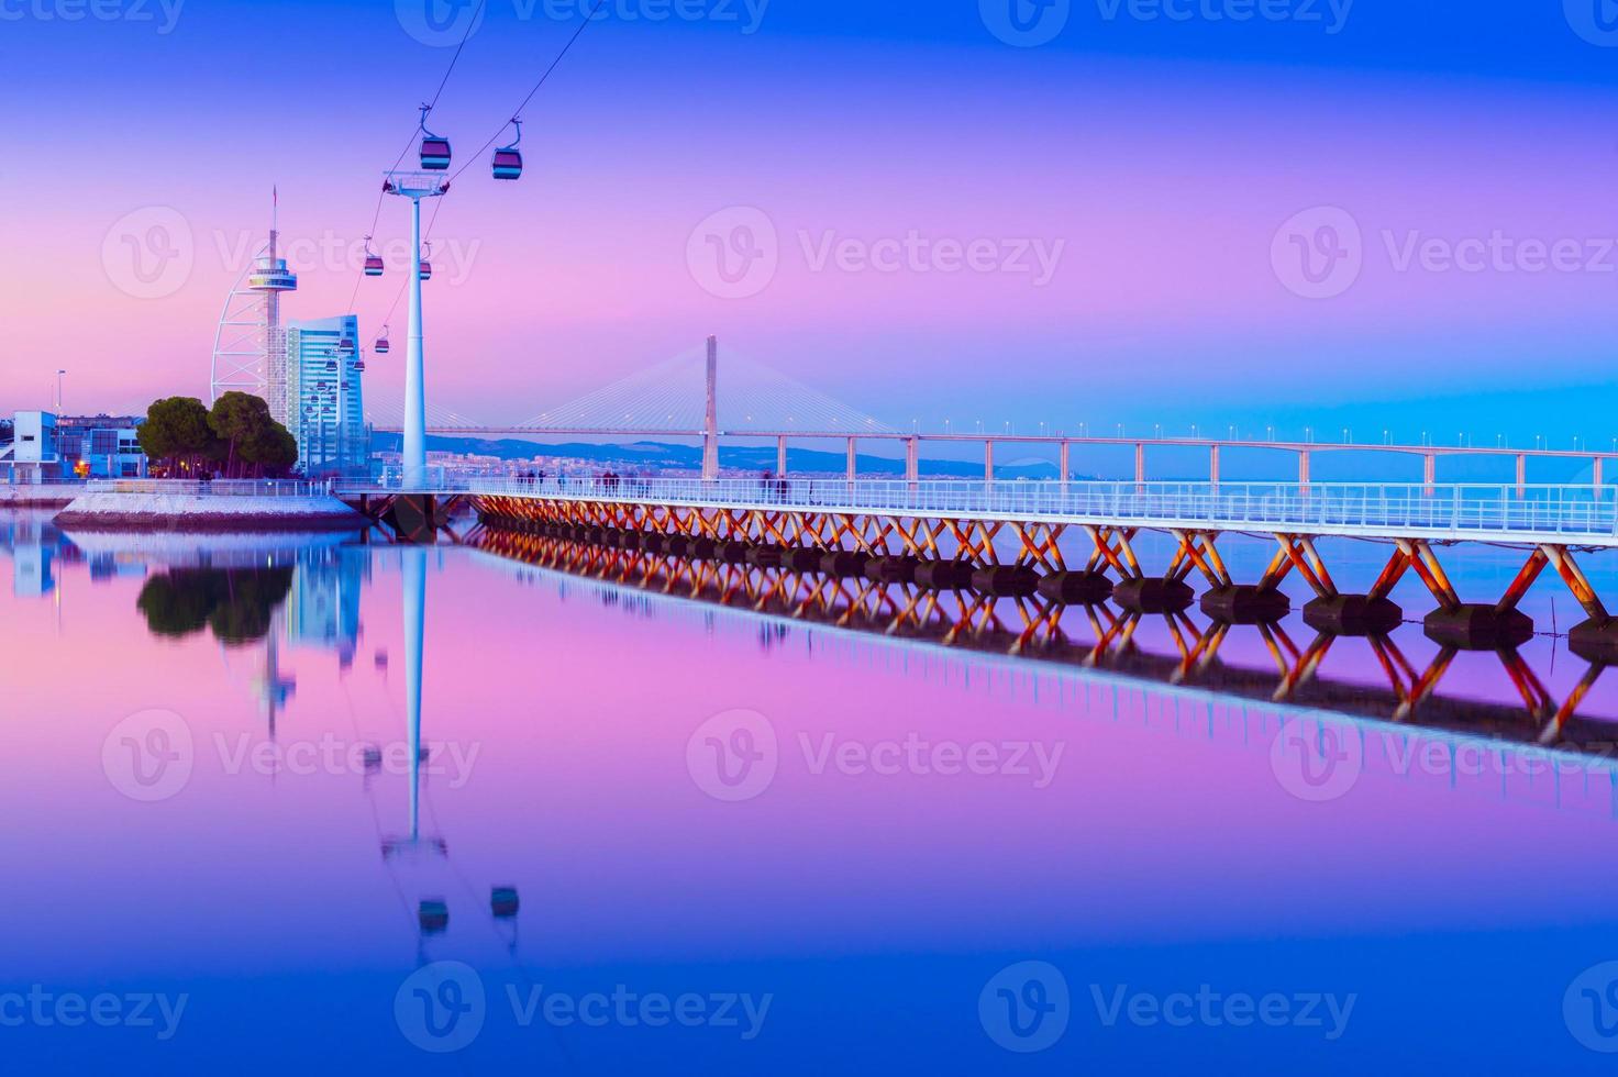
M 1613 1064 L 1618 676 L 1534 747 L 1550 636 L 1391 723 L 1362 640 L 1294 692 L 1348 718 L 1256 629 L 1086 669 L 1082 611 L 1010 657 L 557 550 L 0 534 L 10 1072 Z

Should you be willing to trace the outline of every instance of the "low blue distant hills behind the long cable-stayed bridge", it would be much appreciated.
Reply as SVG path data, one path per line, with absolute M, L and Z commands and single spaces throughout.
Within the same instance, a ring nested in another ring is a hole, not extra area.
M 377 433 L 372 446 L 377 451 L 400 451 L 403 437 L 398 433 Z M 493 456 L 497 459 L 532 459 L 536 456 L 565 456 L 570 459 L 589 461 L 592 464 L 615 464 L 628 467 L 663 467 L 697 471 L 702 467 L 702 450 L 694 445 L 670 445 L 667 441 L 633 441 L 629 445 L 584 445 L 570 441 L 566 445 L 540 445 L 519 438 L 445 438 L 429 437 L 427 450 L 432 453 L 461 453 L 468 456 Z M 736 471 L 775 471 L 775 450 L 770 446 L 726 446 L 718 450 L 722 467 Z M 903 475 L 904 461 L 885 456 L 858 456 L 859 474 L 862 475 Z M 841 453 L 824 453 L 817 450 L 786 450 L 786 469 L 793 474 L 841 475 L 846 459 Z M 982 479 L 984 466 L 972 461 L 922 459 L 919 461 L 922 475 L 937 479 Z M 1048 461 L 1018 461 L 995 464 L 997 479 L 1057 479 L 1058 471 Z

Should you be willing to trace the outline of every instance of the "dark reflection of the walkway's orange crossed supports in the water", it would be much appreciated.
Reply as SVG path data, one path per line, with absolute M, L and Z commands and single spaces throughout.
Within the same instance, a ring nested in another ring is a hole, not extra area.
M 879 584 L 866 577 L 838 579 L 749 564 L 688 561 L 498 529 L 481 530 L 472 538 L 487 551 L 540 568 L 790 619 L 1108 669 L 1238 699 L 1294 703 L 1521 744 L 1558 744 L 1587 752 L 1605 752 L 1613 744 L 1613 731 L 1605 723 L 1576 716 L 1603 665 L 1592 665 L 1558 705 L 1516 648 L 1493 653 L 1521 705 L 1477 702 L 1438 692 L 1459 653 L 1455 647 L 1442 647 L 1425 669 L 1417 669 L 1391 636 L 1351 639 L 1319 634 L 1307 647 L 1299 647 L 1280 624 L 1233 629 L 1212 623 L 1199 627 L 1184 613 L 1152 615 L 1150 619 L 1163 623 L 1173 644 L 1173 653 L 1152 653 L 1137 644 L 1139 629 L 1149 618 L 1110 605 L 1065 606 L 1042 598 L 995 598 L 976 592 Z M 1071 640 L 1068 626 L 1074 623 L 1087 626 L 1095 642 Z M 1275 663 L 1273 673 L 1220 661 L 1220 650 L 1233 631 L 1259 636 Z M 1328 653 L 1351 647 L 1369 650 L 1374 665 L 1367 668 L 1380 669 L 1387 687 L 1320 676 Z

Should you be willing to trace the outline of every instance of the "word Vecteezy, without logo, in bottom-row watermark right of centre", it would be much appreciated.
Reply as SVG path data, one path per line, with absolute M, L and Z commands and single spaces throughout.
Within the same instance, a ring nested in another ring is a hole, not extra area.
M 1129 1024 L 1137 1028 L 1317 1028 L 1328 1041 L 1341 1040 L 1359 995 L 1327 991 L 1215 991 L 1202 983 L 1192 991 L 1131 991 L 1128 985 L 1091 985 L 1091 1001 L 1103 1028 Z

